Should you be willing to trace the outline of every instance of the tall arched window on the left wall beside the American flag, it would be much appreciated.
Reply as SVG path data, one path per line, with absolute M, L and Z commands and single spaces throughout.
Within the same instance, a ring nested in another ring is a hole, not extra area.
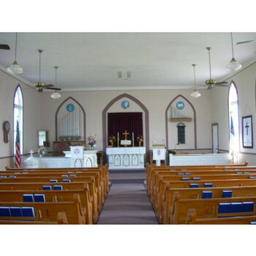
M 14 94 L 14 154 L 15 152 L 15 142 L 17 134 L 17 120 L 19 129 L 19 141 L 20 141 L 20 151 L 23 153 L 23 99 L 22 90 L 18 86 Z

